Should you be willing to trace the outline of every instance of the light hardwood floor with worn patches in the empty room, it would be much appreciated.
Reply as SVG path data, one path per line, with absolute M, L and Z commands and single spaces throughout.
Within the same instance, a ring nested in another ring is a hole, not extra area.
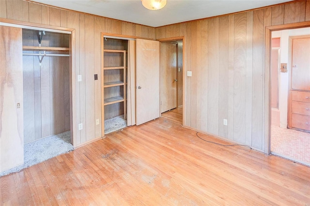
M 310 167 L 204 142 L 180 112 L 0 177 L 0 205 L 310 204 Z

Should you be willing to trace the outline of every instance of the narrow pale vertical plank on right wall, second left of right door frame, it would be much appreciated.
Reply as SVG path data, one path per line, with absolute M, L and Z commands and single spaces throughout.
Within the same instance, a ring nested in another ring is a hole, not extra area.
M 247 12 L 246 144 L 252 144 L 253 12 Z

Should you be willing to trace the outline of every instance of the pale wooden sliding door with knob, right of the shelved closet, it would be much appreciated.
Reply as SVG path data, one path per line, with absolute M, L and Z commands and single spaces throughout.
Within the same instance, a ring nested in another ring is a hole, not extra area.
M 136 125 L 159 118 L 159 42 L 136 42 Z

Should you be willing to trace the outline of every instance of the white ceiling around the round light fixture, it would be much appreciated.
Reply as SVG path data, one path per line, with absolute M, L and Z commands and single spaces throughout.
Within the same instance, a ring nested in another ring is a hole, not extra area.
M 291 0 L 167 0 L 148 10 L 141 0 L 33 0 L 44 4 L 151 27 L 241 12 Z

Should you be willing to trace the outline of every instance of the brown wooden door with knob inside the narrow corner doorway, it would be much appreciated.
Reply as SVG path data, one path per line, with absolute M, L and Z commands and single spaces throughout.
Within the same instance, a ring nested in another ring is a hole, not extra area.
M 160 43 L 160 113 L 177 107 L 176 44 Z

